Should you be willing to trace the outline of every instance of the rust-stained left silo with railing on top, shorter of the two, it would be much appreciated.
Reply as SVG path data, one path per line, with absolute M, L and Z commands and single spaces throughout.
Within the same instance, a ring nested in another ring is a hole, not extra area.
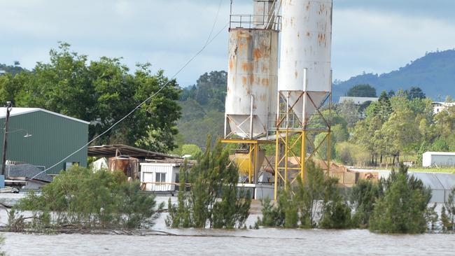
M 273 0 L 253 1 L 254 15 L 231 15 L 225 137 L 267 135 L 276 109 L 278 22 Z

